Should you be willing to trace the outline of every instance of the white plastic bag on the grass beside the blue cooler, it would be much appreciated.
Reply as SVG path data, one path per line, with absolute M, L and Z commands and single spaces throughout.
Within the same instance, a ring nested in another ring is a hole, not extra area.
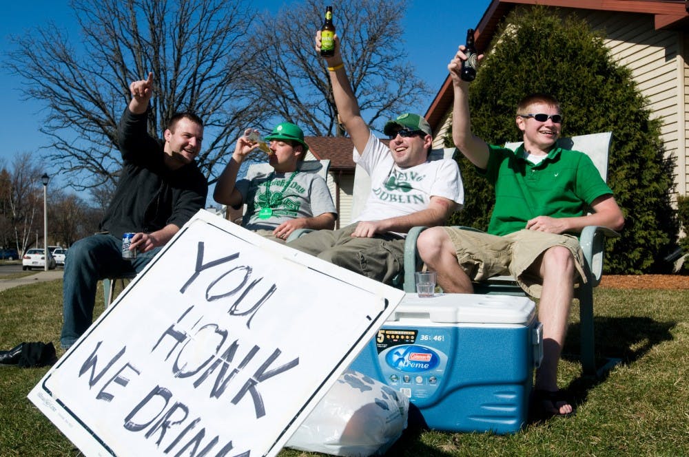
M 287 441 L 287 447 L 335 456 L 382 454 L 407 427 L 409 398 L 347 370 Z

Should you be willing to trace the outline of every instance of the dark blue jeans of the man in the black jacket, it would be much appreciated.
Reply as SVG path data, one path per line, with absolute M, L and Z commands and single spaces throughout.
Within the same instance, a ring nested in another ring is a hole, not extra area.
M 112 235 L 92 235 L 72 244 L 63 274 L 63 349 L 72 346 L 91 325 L 98 281 L 138 273 L 160 250 L 137 252 L 130 261 L 122 258 L 122 240 Z

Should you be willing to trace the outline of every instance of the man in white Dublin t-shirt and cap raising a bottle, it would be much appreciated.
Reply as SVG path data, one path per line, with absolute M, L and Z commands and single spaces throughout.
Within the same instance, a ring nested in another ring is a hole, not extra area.
M 316 34 L 320 54 L 320 32 Z M 337 231 L 316 231 L 287 245 L 333 264 L 389 283 L 404 266 L 404 237 L 413 226 L 442 225 L 464 203 L 454 160 L 428 160 L 431 126 L 418 114 L 402 114 L 384 127 L 389 146 L 371 134 L 361 117 L 340 56 L 327 61 L 333 97 L 354 143 L 353 159 L 371 176 L 371 194 L 362 213 Z

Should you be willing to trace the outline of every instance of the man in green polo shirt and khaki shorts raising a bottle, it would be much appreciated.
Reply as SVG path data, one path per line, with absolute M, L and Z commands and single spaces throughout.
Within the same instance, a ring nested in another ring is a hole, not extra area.
M 524 145 L 516 151 L 488 145 L 471 133 L 469 83 L 460 78 L 463 51 L 460 46 L 448 65 L 453 141 L 495 186 L 495 207 L 488 233 L 434 227 L 420 235 L 419 254 L 438 272 L 446 293 L 473 293 L 471 281 L 513 275 L 526 293 L 540 299 L 544 359 L 536 372 L 535 405 L 547 416 L 568 415 L 573 407 L 557 389 L 557 363 L 575 280 L 585 279 L 575 235 L 588 225 L 619 230 L 624 217 L 590 158 L 555 144 L 562 114 L 552 96 L 534 94 L 517 105 L 515 122 Z

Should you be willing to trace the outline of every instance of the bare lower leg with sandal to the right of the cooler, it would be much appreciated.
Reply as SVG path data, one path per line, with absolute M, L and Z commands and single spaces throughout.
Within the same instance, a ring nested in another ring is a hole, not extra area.
M 536 372 L 535 388 L 553 392 L 557 390 L 557 364 L 574 297 L 574 259 L 567 248 L 553 246 L 534 267 L 543 278 L 543 292 L 538 305 L 538 319 L 543 323 L 543 363 Z M 565 402 L 553 406 L 559 414 L 573 410 Z

